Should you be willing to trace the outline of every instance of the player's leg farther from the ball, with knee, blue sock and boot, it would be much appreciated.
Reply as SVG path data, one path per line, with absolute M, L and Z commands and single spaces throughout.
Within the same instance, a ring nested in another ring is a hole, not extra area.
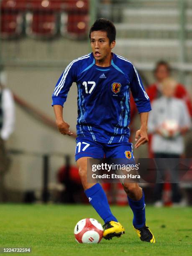
M 137 183 L 124 183 L 123 188 L 128 195 L 128 201 L 133 210 L 133 227 L 141 241 L 155 243 L 154 235 L 145 223 L 145 202 L 142 188 Z

